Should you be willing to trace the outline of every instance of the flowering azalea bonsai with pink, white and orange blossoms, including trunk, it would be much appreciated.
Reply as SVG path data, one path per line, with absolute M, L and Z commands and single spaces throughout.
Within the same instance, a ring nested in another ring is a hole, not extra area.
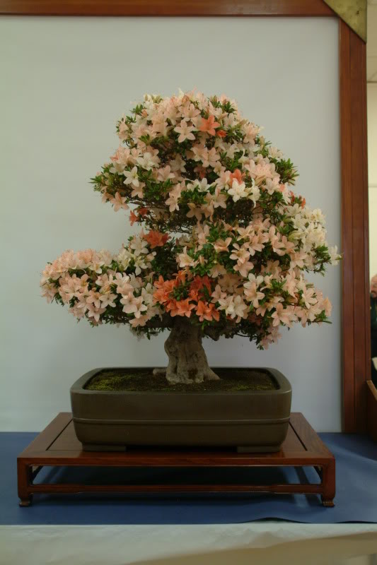
M 320 210 L 291 190 L 291 160 L 234 100 L 145 95 L 117 122 L 120 146 L 92 180 L 129 210 L 139 234 L 122 249 L 65 251 L 42 273 L 42 295 L 92 326 L 169 330 L 170 383 L 219 377 L 202 338 L 240 335 L 268 347 L 279 328 L 326 322 L 331 305 L 305 273 L 340 258 Z

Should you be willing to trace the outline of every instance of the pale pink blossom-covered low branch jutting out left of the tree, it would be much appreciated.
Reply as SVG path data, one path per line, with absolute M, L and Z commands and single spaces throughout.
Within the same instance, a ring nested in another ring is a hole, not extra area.
M 145 326 L 161 316 L 153 304 L 151 276 L 137 276 L 151 266 L 148 245 L 144 238 L 132 237 L 115 256 L 93 249 L 65 251 L 43 271 L 42 295 L 47 302 L 68 304 L 71 314 L 86 317 L 93 326 L 103 321 Z

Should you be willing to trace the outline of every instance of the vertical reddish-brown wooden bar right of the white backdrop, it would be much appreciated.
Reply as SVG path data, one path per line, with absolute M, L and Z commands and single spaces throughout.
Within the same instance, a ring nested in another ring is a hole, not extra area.
M 366 430 L 370 374 L 366 44 L 340 20 L 344 432 Z

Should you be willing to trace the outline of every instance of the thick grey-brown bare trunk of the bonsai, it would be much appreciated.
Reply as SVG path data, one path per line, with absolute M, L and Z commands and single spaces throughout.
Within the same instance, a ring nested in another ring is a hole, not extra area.
M 154 369 L 153 374 L 165 374 L 170 383 L 202 383 L 216 381 L 219 376 L 209 368 L 202 346 L 202 330 L 185 318 L 176 318 L 165 342 L 169 357 L 166 369 Z

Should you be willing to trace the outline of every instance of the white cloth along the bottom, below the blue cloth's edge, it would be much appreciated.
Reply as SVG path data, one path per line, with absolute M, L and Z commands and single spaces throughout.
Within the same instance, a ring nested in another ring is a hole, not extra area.
M 6 525 L 0 549 L 1 565 L 377 565 L 377 525 Z

